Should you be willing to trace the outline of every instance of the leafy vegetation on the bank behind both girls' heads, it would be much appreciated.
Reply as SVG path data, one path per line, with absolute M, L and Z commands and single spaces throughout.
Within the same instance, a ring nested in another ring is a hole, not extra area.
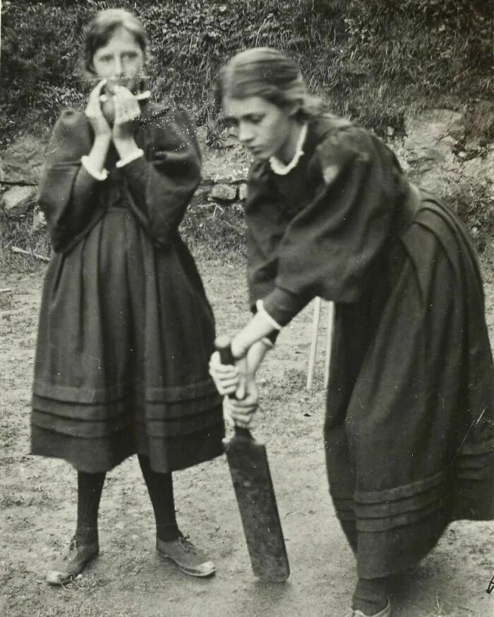
M 405 110 L 455 109 L 489 98 L 493 87 L 485 0 L 6 0 L 1 140 L 82 104 L 83 26 L 111 6 L 143 20 L 151 85 L 157 96 L 185 103 L 198 123 L 217 114 L 211 91 L 219 66 L 260 45 L 294 56 L 311 90 L 378 133 L 403 130 Z

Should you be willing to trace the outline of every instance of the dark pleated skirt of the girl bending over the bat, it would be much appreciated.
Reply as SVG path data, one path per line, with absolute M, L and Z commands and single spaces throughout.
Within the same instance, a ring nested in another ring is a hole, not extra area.
M 494 518 L 494 371 L 474 250 L 445 207 L 337 306 L 325 445 L 359 576 L 426 556 L 450 521 Z

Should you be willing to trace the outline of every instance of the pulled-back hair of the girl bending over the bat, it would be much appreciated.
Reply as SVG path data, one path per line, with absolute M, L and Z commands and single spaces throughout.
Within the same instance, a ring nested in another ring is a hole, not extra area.
M 299 116 L 311 117 L 323 111 L 323 102 L 308 94 L 299 67 L 282 51 L 255 47 L 241 51 L 219 71 L 215 98 L 262 97 L 279 107 L 299 104 Z

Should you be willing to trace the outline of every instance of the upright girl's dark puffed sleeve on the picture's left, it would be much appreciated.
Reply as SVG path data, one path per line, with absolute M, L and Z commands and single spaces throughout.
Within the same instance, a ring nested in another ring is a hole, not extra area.
M 49 142 L 37 197 L 55 252 L 71 250 L 104 214 L 98 199 L 102 182 L 80 162 L 91 147 L 92 132 L 83 112 L 64 111 Z

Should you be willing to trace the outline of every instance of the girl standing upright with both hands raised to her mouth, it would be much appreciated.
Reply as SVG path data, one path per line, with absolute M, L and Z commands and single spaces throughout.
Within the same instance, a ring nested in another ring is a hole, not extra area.
M 214 322 L 178 226 L 200 179 L 184 109 L 143 92 L 149 44 L 122 9 L 97 13 L 85 111 L 54 128 L 39 200 L 47 270 L 32 396 L 32 453 L 78 472 L 76 534 L 49 566 L 63 585 L 97 556 L 105 474 L 135 453 L 157 551 L 193 576 L 215 572 L 176 523 L 171 472 L 222 453 L 221 399 L 207 371 Z

